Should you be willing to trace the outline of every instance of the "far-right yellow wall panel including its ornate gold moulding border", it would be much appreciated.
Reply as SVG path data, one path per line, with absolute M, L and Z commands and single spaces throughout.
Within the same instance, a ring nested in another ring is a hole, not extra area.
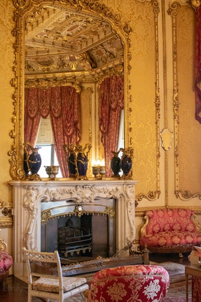
M 195 12 L 188 3 L 171 2 L 173 30 L 173 111 L 175 195 L 182 200 L 201 196 L 200 124 L 195 120 Z M 173 4 L 175 5 L 173 6 Z

